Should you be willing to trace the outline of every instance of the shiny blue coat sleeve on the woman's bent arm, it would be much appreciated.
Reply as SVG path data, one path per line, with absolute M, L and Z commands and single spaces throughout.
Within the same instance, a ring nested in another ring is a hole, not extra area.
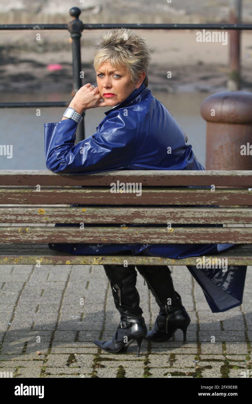
M 46 166 L 54 173 L 70 174 L 127 168 L 137 154 L 137 127 L 136 119 L 124 117 L 117 110 L 117 114 L 112 114 L 103 123 L 100 132 L 74 145 L 77 129 L 74 120 L 46 123 Z

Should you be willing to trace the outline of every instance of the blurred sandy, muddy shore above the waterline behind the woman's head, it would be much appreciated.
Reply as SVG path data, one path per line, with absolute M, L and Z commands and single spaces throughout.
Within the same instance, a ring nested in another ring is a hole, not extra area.
M 67 23 L 71 6 L 78 6 L 83 23 L 215 23 L 229 21 L 229 0 L 122 1 L 19 0 L 3 3 L 1 24 Z M 242 21 L 252 20 L 252 2 L 244 0 Z M 221 91 L 229 72 L 229 44 L 196 42 L 191 30 L 136 30 L 146 38 L 152 61 L 149 87 L 168 93 Z M 84 30 L 81 58 L 84 81 L 94 82 L 93 51 L 103 30 Z M 36 34 L 40 33 L 40 40 Z M 62 69 L 50 72 L 48 64 Z M 241 84 L 252 88 L 252 32 L 241 32 Z M 167 79 L 171 71 L 172 79 Z M 68 31 L 1 31 L 0 91 L 45 92 L 72 90 L 71 38 Z

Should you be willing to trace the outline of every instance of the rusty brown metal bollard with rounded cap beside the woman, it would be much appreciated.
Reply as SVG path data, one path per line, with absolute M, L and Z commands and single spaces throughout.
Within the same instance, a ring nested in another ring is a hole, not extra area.
M 201 116 L 207 121 L 205 169 L 252 170 L 252 93 L 210 95 L 201 104 Z

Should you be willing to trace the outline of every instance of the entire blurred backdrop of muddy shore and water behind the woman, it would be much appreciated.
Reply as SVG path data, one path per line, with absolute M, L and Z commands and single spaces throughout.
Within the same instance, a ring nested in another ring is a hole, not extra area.
M 228 23 L 229 0 L 122 1 L 10 0 L 2 2 L 1 24 L 68 23 L 69 9 L 81 10 L 83 23 Z M 251 23 L 252 1 L 242 3 L 242 22 Z M 96 85 L 95 42 L 107 30 L 84 30 L 81 36 L 83 84 Z M 188 142 L 205 165 L 205 121 L 202 101 L 227 89 L 229 44 L 197 42 L 196 30 L 136 29 L 151 55 L 149 85 L 182 126 Z M 40 40 L 37 40 L 40 34 Z M 59 65 L 59 69 L 50 66 Z M 241 89 L 252 91 L 252 31 L 241 31 Z M 167 78 L 171 72 L 171 78 Z M 0 32 L 0 102 L 71 101 L 73 87 L 71 38 L 68 30 Z M 12 159 L 0 159 L 0 169 L 45 169 L 44 123 L 58 122 L 65 108 L 5 108 L 0 110 L 0 143 L 13 144 Z M 85 137 L 96 132 L 108 108 L 89 109 Z M 14 118 L 13 118 L 14 117 Z

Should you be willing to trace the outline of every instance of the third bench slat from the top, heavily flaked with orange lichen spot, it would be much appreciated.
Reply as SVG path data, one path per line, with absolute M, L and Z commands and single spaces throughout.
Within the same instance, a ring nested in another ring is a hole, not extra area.
M 252 208 L 0 207 L 0 223 L 252 224 Z

